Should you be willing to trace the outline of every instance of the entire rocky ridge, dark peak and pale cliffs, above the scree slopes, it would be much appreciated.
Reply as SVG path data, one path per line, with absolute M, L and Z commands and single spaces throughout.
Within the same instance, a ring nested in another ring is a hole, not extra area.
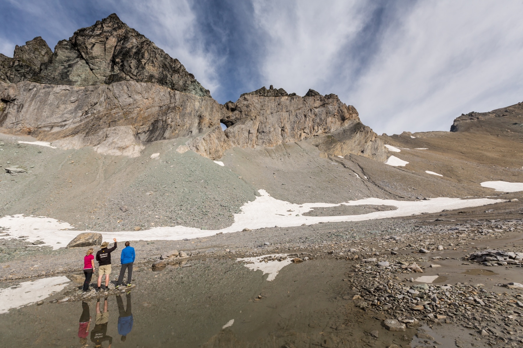
M 116 14 L 77 30 L 54 52 L 38 37 L 16 46 L 13 58 L 0 54 L 0 131 L 129 157 L 144 143 L 185 137 L 185 149 L 211 159 L 232 147 L 307 139 L 324 154 L 385 159 L 381 140 L 337 95 L 310 89 L 300 97 L 271 85 L 221 105 Z

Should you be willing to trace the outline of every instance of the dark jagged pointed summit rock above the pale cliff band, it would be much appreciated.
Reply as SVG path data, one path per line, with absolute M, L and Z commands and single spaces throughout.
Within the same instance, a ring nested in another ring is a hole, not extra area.
M 184 93 L 210 97 L 173 59 L 116 14 L 77 30 L 51 52 L 42 38 L 17 46 L 14 57 L 0 57 L 4 82 L 34 81 L 52 85 L 89 86 L 119 81 L 152 82 Z

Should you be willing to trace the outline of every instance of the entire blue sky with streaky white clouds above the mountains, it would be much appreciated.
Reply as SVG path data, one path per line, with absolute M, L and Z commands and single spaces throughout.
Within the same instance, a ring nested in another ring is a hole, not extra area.
M 448 130 L 523 100 L 523 1 L 0 0 L 0 53 L 117 13 L 219 102 L 335 93 L 377 133 Z

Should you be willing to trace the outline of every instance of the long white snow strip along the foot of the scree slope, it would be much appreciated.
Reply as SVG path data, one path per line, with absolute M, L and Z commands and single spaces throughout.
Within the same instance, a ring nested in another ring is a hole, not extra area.
M 503 199 L 460 199 L 439 197 L 419 201 L 399 201 L 393 199 L 365 198 L 339 204 L 334 203 L 303 203 L 301 205 L 290 203 L 271 197 L 265 190 L 260 189 L 260 196 L 254 201 L 245 203 L 241 212 L 234 214 L 234 223 L 222 230 L 200 230 L 194 227 L 165 226 L 154 227 L 149 230 L 99 232 L 104 240 L 112 238 L 118 240 L 138 241 L 139 239 L 157 239 L 176 241 L 184 238 L 207 237 L 213 234 L 232 233 L 243 229 L 261 229 L 263 227 L 291 227 L 302 224 L 312 225 L 319 222 L 341 222 L 341 221 L 363 221 L 373 219 L 385 219 L 404 217 L 407 215 L 420 214 L 422 212 L 435 213 L 442 209 L 462 209 L 468 207 L 479 207 L 492 203 L 504 201 Z M 374 211 L 360 215 L 343 215 L 332 217 L 309 217 L 303 213 L 311 211 L 315 207 L 337 207 L 337 206 L 360 206 L 360 205 L 384 205 L 397 207 L 396 210 Z M 26 236 L 28 244 L 40 240 L 43 245 L 52 246 L 53 249 L 65 247 L 76 235 L 82 232 L 96 231 L 71 231 L 74 226 L 67 222 L 46 217 L 24 216 L 23 214 L 6 215 L 0 218 L 0 226 L 7 230 L 9 237 L 18 238 Z M 0 238 L 5 235 L 0 233 Z

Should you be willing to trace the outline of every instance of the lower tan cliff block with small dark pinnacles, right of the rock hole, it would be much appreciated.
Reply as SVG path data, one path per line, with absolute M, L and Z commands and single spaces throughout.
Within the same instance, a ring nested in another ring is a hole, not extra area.
M 270 86 L 226 103 L 230 114 L 221 122 L 228 126 L 225 134 L 231 145 L 273 147 L 317 137 L 313 144 L 325 153 L 386 160 L 382 141 L 361 124 L 354 106 L 335 94 L 321 95 L 312 89 L 305 97 L 293 94 Z

